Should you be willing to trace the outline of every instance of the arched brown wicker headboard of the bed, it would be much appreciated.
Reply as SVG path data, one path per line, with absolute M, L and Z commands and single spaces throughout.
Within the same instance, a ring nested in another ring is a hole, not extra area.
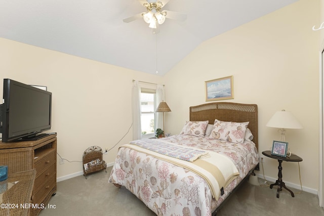
M 216 102 L 189 107 L 190 121 L 209 120 L 213 124 L 215 118 L 221 121 L 246 122 L 258 149 L 258 105 Z

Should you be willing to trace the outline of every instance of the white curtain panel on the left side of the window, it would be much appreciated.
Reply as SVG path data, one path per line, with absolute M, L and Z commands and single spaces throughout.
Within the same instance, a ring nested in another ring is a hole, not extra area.
M 133 81 L 132 89 L 132 120 L 133 120 L 133 140 L 142 138 L 141 128 L 141 86 L 138 81 Z

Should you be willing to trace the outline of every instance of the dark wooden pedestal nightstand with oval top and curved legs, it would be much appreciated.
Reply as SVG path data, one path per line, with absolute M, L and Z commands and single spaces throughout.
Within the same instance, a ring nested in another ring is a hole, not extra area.
M 278 186 L 278 188 L 277 188 L 277 198 L 279 198 L 279 192 L 282 191 L 282 188 L 285 188 L 286 190 L 288 190 L 291 193 L 292 197 L 295 197 L 294 193 L 290 189 L 288 189 L 286 187 L 285 182 L 282 182 L 282 173 L 281 173 L 282 166 L 281 166 L 281 163 L 282 163 L 282 161 L 300 162 L 300 161 L 303 161 L 303 159 L 301 157 L 299 157 L 298 155 L 295 155 L 295 154 L 292 154 L 290 157 L 280 157 L 280 156 L 272 155 L 271 151 L 263 151 L 262 154 L 267 156 L 267 157 L 277 159 L 278 162 L 279 162 L 278 180 L 276 180 L 274 184 L 270 185 L 270 189 L 272 189 L 272 187 L 274 185 Z

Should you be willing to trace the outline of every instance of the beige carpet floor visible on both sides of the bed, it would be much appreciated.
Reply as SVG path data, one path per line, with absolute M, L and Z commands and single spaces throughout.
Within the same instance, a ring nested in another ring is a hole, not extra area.
M 39 215 L 155 215 L 125 187 L 118 189 L 108 183 L 110 170 L 108 167 L 107 173 L 102 170 L 90 174 L 87 180 L 78 176 L 58 182 L 56 195 L 49 202 L 55 208 L 43 209 Z M 317 195 L 297 194 L 300 191 L 292 190 L 294 198 L 285 189 L 276 198 L 276 186 L 269 189 L 246 181 L 217 212 L 217 216 L 324 215 L 324 209 L 318 206 Z

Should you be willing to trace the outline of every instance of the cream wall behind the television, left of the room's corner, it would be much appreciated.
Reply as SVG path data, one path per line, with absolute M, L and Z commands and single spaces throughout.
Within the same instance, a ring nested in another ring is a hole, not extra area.
M 51 131 L 58 133 L 57 152 L 70 161 L 82 161 L 83 152 L 93 145 L 110 149 L 128 132 L 132 124 L 132 79 L 161 80 L 160 76 L 3 38 L 0 48 L 0 80 L 46 85 L 53 93 Z M 119 145 L 131 140 L 132 129 Z M 114 161 L 117 147 L 104 155 L 107 163 Z M 81 162 L 57 163 L 58 178 L 80 171 Z

